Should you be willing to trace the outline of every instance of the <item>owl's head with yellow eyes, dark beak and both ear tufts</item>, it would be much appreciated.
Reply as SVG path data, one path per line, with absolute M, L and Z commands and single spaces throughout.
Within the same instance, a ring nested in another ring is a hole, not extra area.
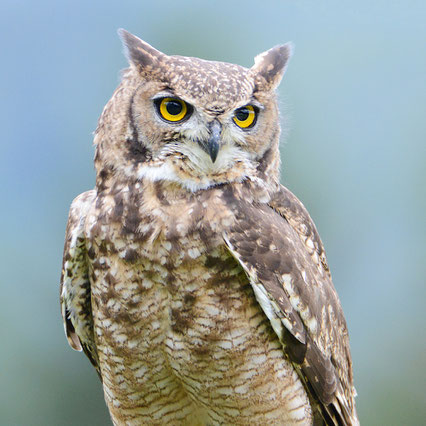
M 130 68 L 95 134 L 97 183 L 171 181 L 198 191 L 254 176 L 279 180 L 275 89 L 291 46 L 250 69 L 168 56 L 120 30 Z

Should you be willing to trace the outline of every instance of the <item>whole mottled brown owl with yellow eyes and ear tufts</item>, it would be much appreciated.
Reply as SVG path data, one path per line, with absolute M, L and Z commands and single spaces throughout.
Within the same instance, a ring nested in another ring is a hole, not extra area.
M 279 183 L 286 44 L 252 68 L 130 62 L 72 203 L 61 304 L 116 425 L 358 424 L 348 332 L 324 248 Z

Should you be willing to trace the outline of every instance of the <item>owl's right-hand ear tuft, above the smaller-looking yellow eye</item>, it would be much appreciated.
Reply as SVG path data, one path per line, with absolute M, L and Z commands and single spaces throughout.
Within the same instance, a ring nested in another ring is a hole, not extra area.
M 251 71 L 254 74 L 256 90 L 272 90 L 279 84 L 293 53 L 293 44 L 275 46 L 254 58 Z

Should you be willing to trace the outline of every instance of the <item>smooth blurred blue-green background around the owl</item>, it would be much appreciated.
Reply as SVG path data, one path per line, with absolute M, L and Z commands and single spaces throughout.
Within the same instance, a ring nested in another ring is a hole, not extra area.
M 365 425 L 425 424 L 426 6 L 422 0 L 0 3 L 0 425 L 108 425 L 65 339 L 69 205 L 126 67 L 117 29 L 251 66 L 286 41 L 282 181 L 327 249 Z

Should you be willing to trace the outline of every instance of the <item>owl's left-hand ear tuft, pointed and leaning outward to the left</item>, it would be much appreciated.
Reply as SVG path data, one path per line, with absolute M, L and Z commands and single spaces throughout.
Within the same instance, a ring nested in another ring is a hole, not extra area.
M 123 42 L 124 53 L 130 65 L 134 65 L 141 70 L 152 69 L 166 57 L 164 53 L 154 49 L 148 43 L 123 28 L 118 30 L 118 35 Z

